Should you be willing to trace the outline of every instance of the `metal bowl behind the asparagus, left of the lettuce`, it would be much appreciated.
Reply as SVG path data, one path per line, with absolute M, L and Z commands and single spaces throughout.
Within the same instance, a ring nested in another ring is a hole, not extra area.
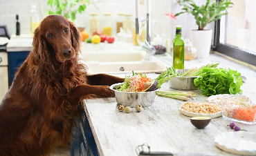
M 176 72 L 178 72 L 180 75 L 182 75 L 184 72 L 186 72 L 188 69 L 178 69 Z M 169 86 L 173 89 L 178 90 L 196 90 L 196 86 L 194 86 L 194 79 L 197 77 L 172 77 L 168 81 Z

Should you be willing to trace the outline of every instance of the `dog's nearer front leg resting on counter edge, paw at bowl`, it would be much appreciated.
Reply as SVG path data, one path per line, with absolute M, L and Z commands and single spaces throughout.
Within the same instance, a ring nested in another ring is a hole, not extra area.
M 67 100 L 71 104 L 78 104 L 81 97 L 91 94 L 99 95 L 100 97 L 115 96 L 113 90 L 109 89 L 109 86 L 90 86 L 86 84 L 81 84 L 71 90 L 71 93 L 68 96 Z

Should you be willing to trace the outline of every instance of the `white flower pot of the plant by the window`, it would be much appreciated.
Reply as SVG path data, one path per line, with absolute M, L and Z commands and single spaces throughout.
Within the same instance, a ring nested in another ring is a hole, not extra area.
M 197 50 L 197 57 L 209 57 L 212 43 L 212 30 L 191 30 L 190 40 Z

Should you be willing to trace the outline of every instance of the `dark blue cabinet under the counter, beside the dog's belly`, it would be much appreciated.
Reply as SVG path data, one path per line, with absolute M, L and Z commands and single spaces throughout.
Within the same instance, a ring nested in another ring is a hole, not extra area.
M 95 139 L 84 111 L 81 119 L 76 122 L 78 128 L 74 128 L 75 133 L 70 148 L 71 156 L 98 156 Z

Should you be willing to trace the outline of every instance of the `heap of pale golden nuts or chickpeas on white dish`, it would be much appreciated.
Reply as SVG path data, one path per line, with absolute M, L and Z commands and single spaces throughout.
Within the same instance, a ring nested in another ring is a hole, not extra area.
M 221 108 L 216 104 L 209 104 L 206 102 L 185 102 L 181 109 L 186 110 L 192 113 L 201 113 L 201 114 L 214 114 L 221 112 Z

